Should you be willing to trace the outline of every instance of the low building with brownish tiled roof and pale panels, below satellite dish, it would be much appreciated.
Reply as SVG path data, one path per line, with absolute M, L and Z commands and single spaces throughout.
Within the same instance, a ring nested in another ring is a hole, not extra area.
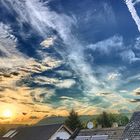
M 124 127 L 83 129 L 79 131 L 75 140 L 120 140 Z

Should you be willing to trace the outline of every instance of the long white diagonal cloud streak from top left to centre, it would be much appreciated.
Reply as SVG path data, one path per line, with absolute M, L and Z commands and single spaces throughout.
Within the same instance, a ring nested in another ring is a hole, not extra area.
M 93 75 L 90 64 L 85 62 L 84 46 L 71 32 L 71 27 L 76 24 L 75 19 L 51 11 L 47 6 L 44 6 L 44 3 L 38 0 L 21 3 L 17 1 L 14 1 L 14 3 L 13 1 L 7 1 L 19 15 L 18 18 L 21 19 L 21 22 L 31 23 L 32 27 L 37 30 L 43 38 L 47 37 L 47 27 L 56 30 L 66 45 L 65 52 L 68 53 L 61 52 L 59 49 L 57 49 L 57 51 L 64 59 L 68 60 L 67 63 L 75 71 L 77 76 L 81 78 L 82 82 L 86 85 L 85 87 L 88 87 L 88 89 L 92 87 L 96 88 L 94 85 L 98 85 L 99 82 Z M 5 1 L 4 3 L 6 4 Z

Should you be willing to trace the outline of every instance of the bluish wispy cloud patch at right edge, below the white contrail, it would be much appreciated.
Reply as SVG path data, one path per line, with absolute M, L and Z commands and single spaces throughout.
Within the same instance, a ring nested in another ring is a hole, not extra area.
M 121 58 L 122 61 L 127 63 L 140 61 L 140 56 L 137 54 L 137 51 L 134 50 L 134 47 L 139 50 L 139 37 L 136 38 L 134 46 L 127 46 L 124 43 L 123 37 L 116 35 L 95 44 L 87 45 L 88 49 L 100 52 L 101 56 L 113 57 L 112 53 L 114 53 L 115 57 L 118 59 Z

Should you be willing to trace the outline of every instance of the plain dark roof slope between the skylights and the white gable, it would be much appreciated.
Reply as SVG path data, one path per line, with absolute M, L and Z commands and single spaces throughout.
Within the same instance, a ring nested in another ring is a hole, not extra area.
M 61 127 L 62 124 L 52 124 L 17 128 L 12 140 L 48 140 Z

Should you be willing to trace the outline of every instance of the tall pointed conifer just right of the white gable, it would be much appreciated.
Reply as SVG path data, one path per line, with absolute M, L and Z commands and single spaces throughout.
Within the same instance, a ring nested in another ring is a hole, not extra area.
M 69 113 L 69 116 L 67 117 L 66 121 L 65 121 L 65 125 L 70 128 L 72 131 L 74 131 L 75 129 L 82 128 L 82 124 L 81 121 L 79 119 L 78 113 L 74 111 L 74 109 L 71 110 L 71 112 Z

